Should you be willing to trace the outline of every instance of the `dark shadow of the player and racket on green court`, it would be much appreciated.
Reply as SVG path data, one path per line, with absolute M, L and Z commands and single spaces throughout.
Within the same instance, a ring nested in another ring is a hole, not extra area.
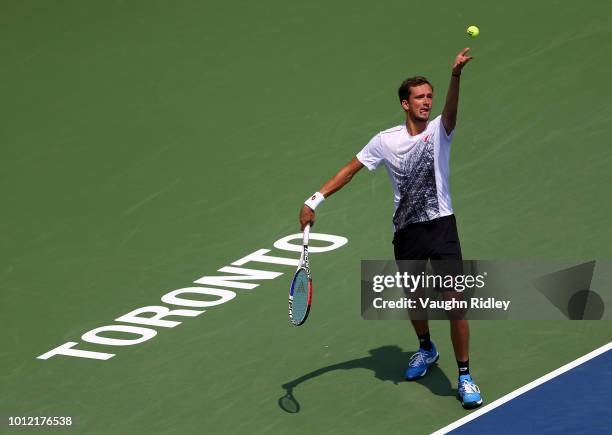
M 335 370 L 368 369 L 374 372 L 374 376 L 381 381 L 391 381 L 394 384 L 405 382 L 404 371 L 410 357 L 414 352 L 403 352 L 399 346 L 381 346 L 369 351 L 370 355 L 332 364 L 320 369 L 306 373 L 299 378 L 282 385 L 286 394 L 278 400 L 278 405 L 286 412 L 300 412 L 300 404 L 293 396 L 293 390 L 298 385 Z M 451 381 L 437 365 L 430 367 L 424 378 L 416 381 L 438 396 L 455 396 L 456 389 L 451 386 Z

